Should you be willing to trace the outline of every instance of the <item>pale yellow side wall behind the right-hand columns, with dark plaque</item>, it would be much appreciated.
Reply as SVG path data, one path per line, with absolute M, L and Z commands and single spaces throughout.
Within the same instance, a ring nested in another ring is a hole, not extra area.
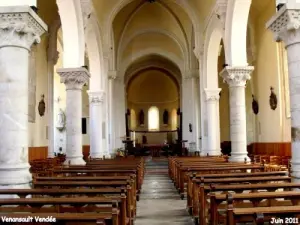
M 278 44 L 274 41 L 271 31 L 265 28 L 266 22 L 274 13 L 274 2 L 270 1 L 265 10 L 258 14 L 256 18 L 253 18 L 257 55 L 252 82 L 260 107 L 259 114 L 256 116 L 257 142 L 290 141 L 289 119 L 285 116 L 283 102 L 283 73 L 279 63 Z M 271 86 L 278 98 L 278 107 L 275 111 L 269 105 Z

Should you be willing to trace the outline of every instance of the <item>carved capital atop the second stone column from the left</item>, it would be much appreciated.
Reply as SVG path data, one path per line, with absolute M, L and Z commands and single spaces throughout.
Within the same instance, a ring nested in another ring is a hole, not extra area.
M 60 75 L 60 82 L 66 85 L 67 90 L 82 89 L 82 86 L 89 81 L 90 73 L 84 67 L 57 69 Z

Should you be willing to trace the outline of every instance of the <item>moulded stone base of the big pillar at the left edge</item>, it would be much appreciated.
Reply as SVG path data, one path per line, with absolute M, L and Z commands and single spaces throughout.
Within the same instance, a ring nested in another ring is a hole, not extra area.
M 0 165 L 0 188 L 31 188 L 32 175 L 28 163 Z

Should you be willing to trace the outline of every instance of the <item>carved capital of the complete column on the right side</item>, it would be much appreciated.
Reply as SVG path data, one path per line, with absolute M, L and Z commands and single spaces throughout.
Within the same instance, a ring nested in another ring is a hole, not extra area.
M 226 66 L 221 71 L 220 76 L 229 87 L 244 87 L 247 80 L 251 79 L 253 70 L 253 66 Z

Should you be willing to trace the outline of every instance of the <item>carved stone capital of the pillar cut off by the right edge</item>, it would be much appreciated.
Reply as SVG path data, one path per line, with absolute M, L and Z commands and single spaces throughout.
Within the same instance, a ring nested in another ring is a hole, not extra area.
M 286 45 L 300 41 L 300 3 L 286 3 L 267 22 L 266 28 L 274 34 L 274 39 Z

